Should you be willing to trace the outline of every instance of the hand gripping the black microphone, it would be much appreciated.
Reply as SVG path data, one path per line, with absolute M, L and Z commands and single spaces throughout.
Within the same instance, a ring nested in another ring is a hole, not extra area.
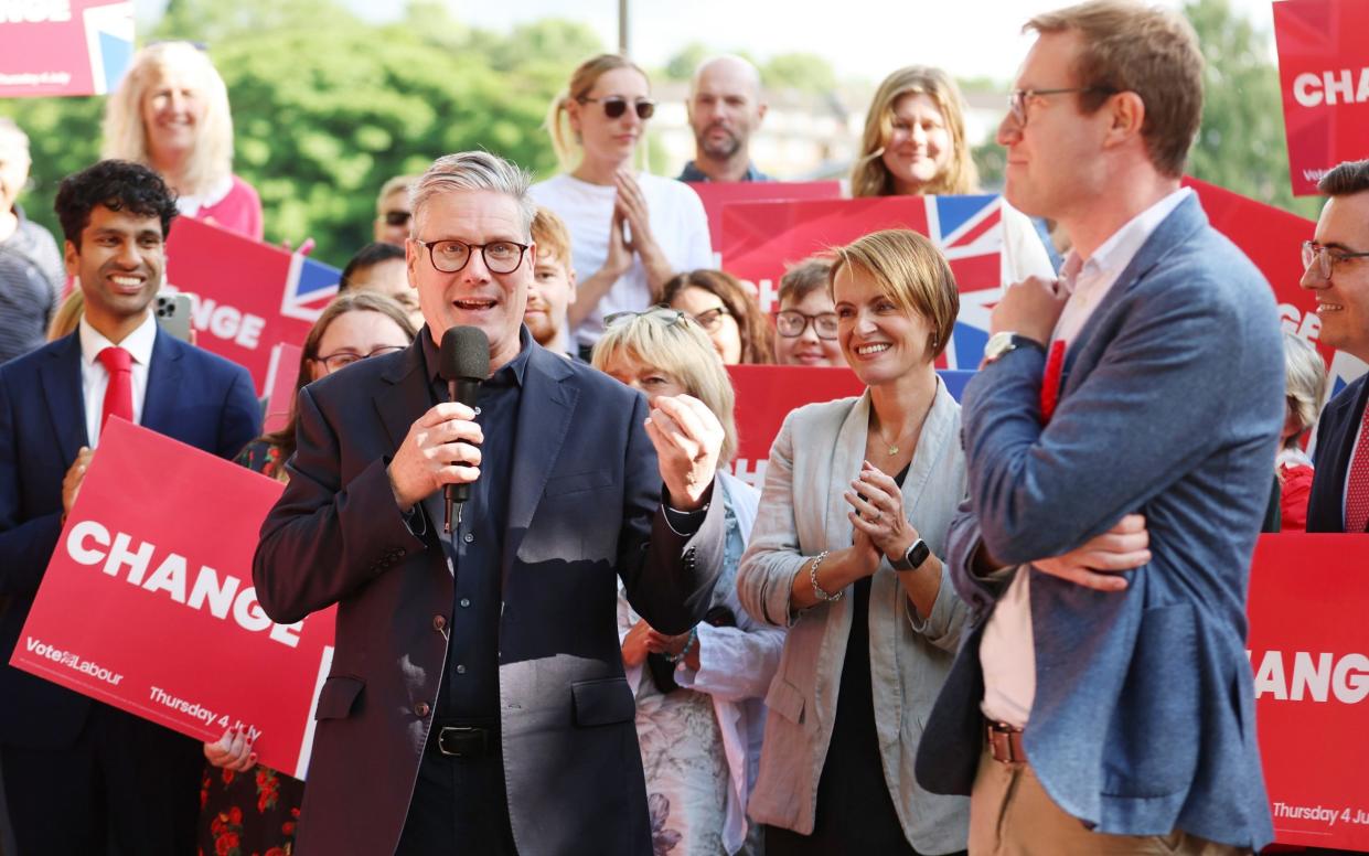
M 457 401 L 437 404 L 409 426 L 386 473 L 401 511 L 413 508 L 444 485 L 474 482 L 481 477 L 485 434 L 474 422 L 475 411 Z

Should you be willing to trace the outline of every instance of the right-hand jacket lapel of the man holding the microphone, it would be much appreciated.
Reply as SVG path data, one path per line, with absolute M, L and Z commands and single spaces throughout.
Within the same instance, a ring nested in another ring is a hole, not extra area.
M 564 357 L 533 344 L 519 400 L 517 433 L 513 437 L 513 471 L 509 479 L 508 530 L 504 534 L 501 582 L 507 583 L 513 557 L 533 523 L 542 489 L 556 466 L 579 390 L 564 383 L 571 375 Z M 502 586 L 508 592 L 508 585 Z

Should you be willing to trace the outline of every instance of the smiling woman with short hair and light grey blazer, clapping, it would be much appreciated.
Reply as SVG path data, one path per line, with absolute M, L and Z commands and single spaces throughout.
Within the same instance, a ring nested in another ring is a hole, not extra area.
M 867 389 L 795 410 L 771 446 L 737 582 L 789 634 L 749 814 L 767 856 L 961 851 L 969 801 L 913 779 L 967 618 L 941 559 L 965 494 L 960 405 L 934 368 L 958 292 L 913 231 L 834 252 L 838 342 Z

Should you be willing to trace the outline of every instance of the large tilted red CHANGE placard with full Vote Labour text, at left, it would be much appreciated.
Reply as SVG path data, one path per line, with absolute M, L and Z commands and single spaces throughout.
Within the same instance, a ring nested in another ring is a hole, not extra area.
M 241 723 L 303 778 L 335 611 L 285 626 L 257 605 L 252 553 L 282 489 L 111 420 L 10 664 L 197 740 Z

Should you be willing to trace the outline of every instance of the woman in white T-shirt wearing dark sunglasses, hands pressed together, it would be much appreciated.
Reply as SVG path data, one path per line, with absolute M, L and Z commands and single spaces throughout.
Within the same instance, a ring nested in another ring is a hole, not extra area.
M 576 297 L 567 323 L 582 348 L 598 341 L 605 316 L 645 310 L 672 275 L 713 263 L 698 196 L 632 166 L 654 110 L 646 74 L 604 53 L 580 63 L 548 116 L 567 171 L 531 194 L 571 230 Z

